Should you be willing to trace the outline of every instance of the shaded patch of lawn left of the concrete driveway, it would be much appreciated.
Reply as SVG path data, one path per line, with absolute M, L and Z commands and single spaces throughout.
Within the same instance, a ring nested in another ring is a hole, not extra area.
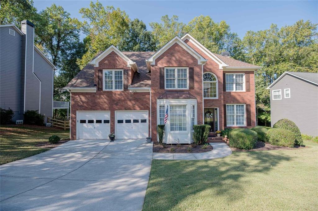
M 0 164 L 4 164 L 49 150 L 35 145 L 48 141 L 51 135 L 68 138 L 69 130 L 38 126 L 1 126 L 0 134 Z

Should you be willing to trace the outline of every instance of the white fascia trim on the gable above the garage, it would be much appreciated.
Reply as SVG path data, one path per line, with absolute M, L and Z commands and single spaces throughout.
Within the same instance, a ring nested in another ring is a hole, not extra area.
M 133 70 L 139 72 L 137 64 L 129 59 L 125 54 L 123 54 L 120 50 L 118 50 L 114 45 L 109 46 L 106 50 L 104 50 L 100 55 L 94 58 L 89 64 L 93 64 L 94 67 L 99 67 L 99 62 L 105 58 L 111 52 L 115 52 L 118 56 L 120 56 L 123 60 L 127 62 L 127 67 L 132 67 Z

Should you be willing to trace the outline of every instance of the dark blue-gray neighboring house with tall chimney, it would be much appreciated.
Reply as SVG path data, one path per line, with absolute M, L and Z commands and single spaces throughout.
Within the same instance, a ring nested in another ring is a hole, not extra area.
M 52 117 L 55 69 L 34 45 L 33 23 L 0 25 L 0 107 L 14 111 L 12 120 L 23 120 L 26 110 Z

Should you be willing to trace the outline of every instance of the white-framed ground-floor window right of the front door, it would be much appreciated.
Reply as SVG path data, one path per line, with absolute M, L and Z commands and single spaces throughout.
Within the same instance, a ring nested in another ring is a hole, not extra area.
M 245 126 L 245 104 L 226 105 L 226 125 Z

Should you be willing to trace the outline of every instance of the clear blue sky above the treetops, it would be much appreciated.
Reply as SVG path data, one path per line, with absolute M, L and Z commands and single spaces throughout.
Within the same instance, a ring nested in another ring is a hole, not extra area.
M 95 1 L 94 1 L 95 2 Z M 279 27 L 297 20 L 318 23 L 318 1 L 100 1 L 125 10 L 130 19 L 138 18 L 147 25 L 160 22 L 163 15 L 179 16 L 188 23 L 195 16 L 211 16 L 215 22 L 225 20 L 231 31 L 243 38 L 248 30 L 268 29 L 271 23 Z M 52 3 L 63 6 L 71 16 L 82 20 L 79 9 L 89 7 L 90 1 L 37 1 L 34 6 L 43 10 Z M 83 36 L 82 36 L 83 38 Z

